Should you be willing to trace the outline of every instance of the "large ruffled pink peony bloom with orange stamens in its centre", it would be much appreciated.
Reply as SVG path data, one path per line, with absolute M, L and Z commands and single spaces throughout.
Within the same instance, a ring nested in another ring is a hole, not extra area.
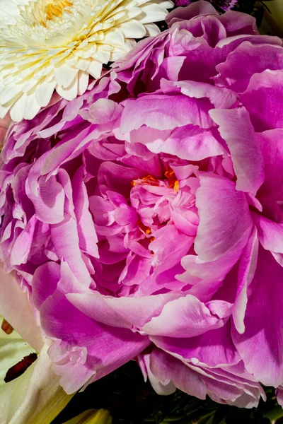
M 0 257 L 68 392 L 128 360 L 253 407 L 283 383 L 283 48 L 205 1 L 96 85 L 14 124 Z

